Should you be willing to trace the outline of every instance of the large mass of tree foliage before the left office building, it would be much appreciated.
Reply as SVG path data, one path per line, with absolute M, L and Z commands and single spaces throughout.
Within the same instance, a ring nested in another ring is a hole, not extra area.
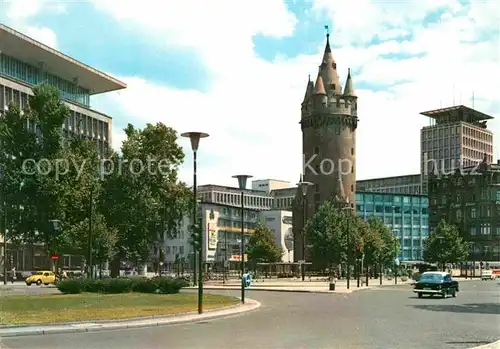
M 162 123 L 128 125 L 121 153 L 99 159 L 95 142 L 61 125 L 70 116 L 57 89 L 33 88 L 29 107 L 0 117 L 2 210 L 8 238 L 42 243 L 48 253 L 144 261 L 153 242 L 177 233 L 191 205 L 177 178 L 184 160 L 177 133 Z M 55 231 L 50 220 L 60 221 Z

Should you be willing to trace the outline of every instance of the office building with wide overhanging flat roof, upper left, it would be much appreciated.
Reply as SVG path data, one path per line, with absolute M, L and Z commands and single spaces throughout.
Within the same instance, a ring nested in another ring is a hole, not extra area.
M 90 96 L 125 83 L 0 24 L 0 114 L 10 103 L 26 108 L 31 88 L 42 83 L 56 87 L 71 110 L 62 125 L 66 136 L 95 141 L 101 154 L 111 146 L 112 119 L 91 108 Z

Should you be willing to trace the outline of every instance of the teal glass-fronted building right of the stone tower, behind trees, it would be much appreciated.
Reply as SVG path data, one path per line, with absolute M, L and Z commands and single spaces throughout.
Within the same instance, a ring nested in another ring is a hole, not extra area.
M 429 235 L 429 200 L 424 195 L 356 192 L 356 211 L 363 219 L 375 215 L 399 239 L 399 260 L 423 260 Z

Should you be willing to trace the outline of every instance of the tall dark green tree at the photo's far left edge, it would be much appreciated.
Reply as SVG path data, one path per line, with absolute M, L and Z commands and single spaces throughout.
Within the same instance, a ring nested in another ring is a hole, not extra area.
M 44 243 L 48 251 L 67 245 L 64 231 L 56 233 L 49 221 L 64 218 L 54 169 L 64 146 L 61 125 L 69 115 L 57 89 L 40 85 L 33 88 L 29 107 L 21 113 L 11 103 L 0 125 L 11 238 Z

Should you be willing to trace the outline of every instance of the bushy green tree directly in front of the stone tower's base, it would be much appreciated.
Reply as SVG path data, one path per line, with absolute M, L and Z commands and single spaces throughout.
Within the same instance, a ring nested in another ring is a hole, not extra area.
M 312 262 L 325 269 L 346 263 L 356 247 L 362 248 L 362 222 L 348 210 L 326 201 L 306 224 Z

